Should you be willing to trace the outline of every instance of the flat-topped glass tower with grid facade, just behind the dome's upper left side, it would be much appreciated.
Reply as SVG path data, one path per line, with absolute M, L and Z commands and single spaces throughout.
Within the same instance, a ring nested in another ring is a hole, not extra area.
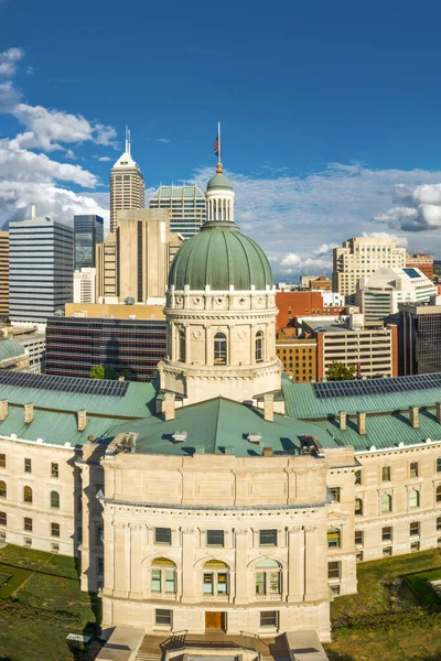
M 151 209 L 170 210 L 170 230 L 189 239 L 206 220 L 205 195 L 197 186 L 160 186 L 150 198 Z

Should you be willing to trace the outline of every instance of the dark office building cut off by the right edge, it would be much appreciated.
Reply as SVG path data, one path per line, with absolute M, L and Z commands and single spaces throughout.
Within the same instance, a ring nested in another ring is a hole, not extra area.
M 441 371 L 441 305 L 399 305 L 400 375 Z

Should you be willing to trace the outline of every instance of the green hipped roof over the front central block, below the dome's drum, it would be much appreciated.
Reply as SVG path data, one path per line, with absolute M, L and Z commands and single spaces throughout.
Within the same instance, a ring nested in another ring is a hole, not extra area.
M 187 440 L 173 443 L 175 431 L 184 431 Z M 275 454 L 298 454 L 299 434 L 316 436 L 323 447 L 335 447 L 331 434 L 323 427 L 275 413 L 273 422 L 263 419 L 263 412 L 238 402 L 216 398 L 175 410 L 175 419 L 164 422 L 161 416 L 137 420 L 117 425 L 111 435 L 135 432 L 139 434 L 137 452 L 165 455 L 228 454 L 233 448 L 239 457 L 259 456 L 263 447 Z M 250 432 L 261 434 L 259 445 L 249 443 Z

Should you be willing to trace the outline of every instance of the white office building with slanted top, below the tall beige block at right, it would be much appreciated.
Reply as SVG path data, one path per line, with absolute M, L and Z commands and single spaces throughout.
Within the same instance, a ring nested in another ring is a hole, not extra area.
M 358 280 L 356 303 L 366 325 L 381 325 L 397 314 L 399 303 L 421 304 L 435 295 L 435 285 L 418 269 L 378 269 Z

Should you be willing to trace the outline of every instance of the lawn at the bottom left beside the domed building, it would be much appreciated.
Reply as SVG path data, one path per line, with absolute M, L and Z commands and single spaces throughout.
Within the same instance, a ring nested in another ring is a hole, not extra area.
M 87 651 L 72 650 L 68 633 L 96 639 L 99 599 L 79 589 L 74 559 L 9 544 L 0 550 L 0 654 L 13 661 L 68 661 L 95 658 L 98 642 Z M 2 657 L 0 655 L 0 661 Z

